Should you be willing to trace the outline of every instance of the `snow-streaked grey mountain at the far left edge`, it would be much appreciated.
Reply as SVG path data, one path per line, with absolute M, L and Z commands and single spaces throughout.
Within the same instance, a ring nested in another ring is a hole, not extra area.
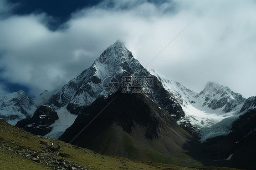
M 30 118 L 35 110 L 35 103 L 22 90 L 0 95 L 0 119 L 12 125 L 18 120 Z

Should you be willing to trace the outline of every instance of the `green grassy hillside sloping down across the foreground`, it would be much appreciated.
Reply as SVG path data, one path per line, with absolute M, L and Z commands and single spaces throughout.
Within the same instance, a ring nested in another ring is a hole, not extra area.
M 51 147 L 51 142 L 54 147 Z M 60 151 L 55 149 L 57 145 L 60 145 Z M 72 167 L 74 170 L 232 170 L 138 162 L 99 155 L 60 140 L 31 135 L 0 120 L 0 170 L 72 170 Z

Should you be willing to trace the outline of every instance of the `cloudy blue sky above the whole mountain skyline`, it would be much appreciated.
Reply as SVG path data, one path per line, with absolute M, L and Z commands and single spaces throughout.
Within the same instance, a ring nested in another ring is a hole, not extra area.
M 119 39 L 190 90 L 214 81 L 256 96 L 255 9 L 255 0 L 0 0 L 0 94 L 60 88 Z

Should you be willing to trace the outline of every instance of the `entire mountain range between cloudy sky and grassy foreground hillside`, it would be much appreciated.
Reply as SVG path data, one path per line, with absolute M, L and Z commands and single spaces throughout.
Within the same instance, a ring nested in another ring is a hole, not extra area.
M 12 125 L 105 155 L 161 163 L 253 169 L 255 116 L 256 97 L 214 82 L 195 93 L 144 68 L 119 40 L 60 90 L 34 99 L 22 90 L 0 95 L 0 118 Z

